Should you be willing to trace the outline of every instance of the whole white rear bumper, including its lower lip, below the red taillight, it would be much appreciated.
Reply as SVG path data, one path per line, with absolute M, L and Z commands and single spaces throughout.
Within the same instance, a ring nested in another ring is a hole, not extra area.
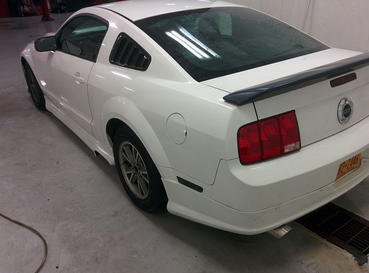
M 220 160 L 213 185 L 159 167 L 172 214 L 239 234 L 292 221 L 350 190 L 369 175 L 369 118 L 300 151 L 252 165 Z M 361 165 L 335 181 L 339 165 L 362 153 Z M 203 187 L 192 190 L 176 176 Z

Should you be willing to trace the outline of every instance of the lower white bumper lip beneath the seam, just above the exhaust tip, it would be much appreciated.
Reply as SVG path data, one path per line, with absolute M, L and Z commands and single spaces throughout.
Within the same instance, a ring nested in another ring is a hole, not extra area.
M 369 175 L 369 159 L 344 179 L 265 210 L 244 212 L 227 207 L 173 180 L 162 179 L 168 211 L 189 220 L 238 234 L 252 235 L 279 227 L 330 202 Z

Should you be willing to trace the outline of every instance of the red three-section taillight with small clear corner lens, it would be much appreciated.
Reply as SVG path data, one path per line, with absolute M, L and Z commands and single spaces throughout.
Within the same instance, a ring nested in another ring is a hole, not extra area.
M 242 164 L 273 158 L 301 148 L 294 111 L 246 124 L 238 129 L 237 143 Z

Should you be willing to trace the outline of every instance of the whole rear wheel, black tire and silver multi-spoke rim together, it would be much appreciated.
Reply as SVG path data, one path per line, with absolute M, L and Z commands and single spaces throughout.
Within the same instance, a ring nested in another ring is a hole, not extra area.
M 113 150 L 118 175 L 132 202 L 148 212 L 164 208 L 168 198 L 161 175 L 137 135 L 126 127 L 119 128 Z

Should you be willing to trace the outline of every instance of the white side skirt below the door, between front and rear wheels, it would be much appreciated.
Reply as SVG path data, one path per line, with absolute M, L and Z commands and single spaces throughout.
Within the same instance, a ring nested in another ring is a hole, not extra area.
M 63 122 L 69 129 L 71 129 L 73 133 L 75 133 L 80 139 L 82 139 L 82 141 L 85 142 L 85 144 L 89 146 L 92 151 L 98 152 L 109 162 L 110 165 L 115 165 L 112 148 L 110 148 L 100 139 L 97 139 L 94 135 L 90 134 L 90 132 L 86 131 L 74 120 L 68 117 L 62 110 L 56 107 L 55 104 L 52 103 L 46 96 L 44 97 L 47 110 L 54 114 L 55 117 L 59 118 L 59 120 L 61 120 L 61 122 Z

